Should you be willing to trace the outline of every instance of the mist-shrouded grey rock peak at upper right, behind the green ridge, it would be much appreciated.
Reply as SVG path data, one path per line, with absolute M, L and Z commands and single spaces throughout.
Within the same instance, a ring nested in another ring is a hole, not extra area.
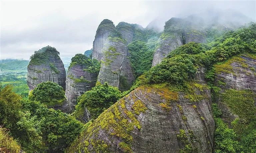
M 152 67 L 167 57 L 177 47 L 191 41 L 206 42 L 206 31 L 202 27 L 192 25 L 187 20 L 171 18 L 165 23 L 164 32 L 159 38 L 159 45 L 154 53 Z

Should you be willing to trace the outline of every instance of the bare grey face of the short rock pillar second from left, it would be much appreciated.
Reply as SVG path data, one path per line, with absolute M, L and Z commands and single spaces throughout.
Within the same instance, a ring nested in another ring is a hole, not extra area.
M 77 98 L 91 90 L 97 81 L 97 72 L 90 73 L 84 69 L 88 69 L 88 66 L 76 64 L 68 70 L 65 96 L 72 110 L 75 109 Z

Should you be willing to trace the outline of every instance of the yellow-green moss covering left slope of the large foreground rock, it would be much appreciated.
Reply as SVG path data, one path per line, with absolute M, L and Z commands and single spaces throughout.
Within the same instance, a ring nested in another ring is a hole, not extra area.
M 145 105 L 139 103 L 140 102 L 137 104 L 140 106 Z M 94 137 L 97 136 L 101 129 L 105 131 L 111 129 L 111 137 L 116 136 L 117 138 L 120 138 L 121 142 L 119 143 L 119 146 L 124 152 L 131 152 L 131 142 L 133 140 L 131 133 L 135 128 L 141 128 L 139 121 L 134 114 L 135 112 L 139 114 L 141 111 L 145 111 L 143 108 L 137 108 L 139 107 L 134 106 L 132 111 L 127 110 L 125 100 L 123 98 L 120 99 L 117 103 L 110 106 L 99 115 L 87 128 L 84 128 L 78 139 L 72 143 L 71 147 L 69 147 L 66 152 L 71 153 L 79 151 L 80 148 L 84 148 L 84 151 L 88 152 L 89 145 L 93 147 L 94 152 L 111 152 L 106 142 L 95 139 Z

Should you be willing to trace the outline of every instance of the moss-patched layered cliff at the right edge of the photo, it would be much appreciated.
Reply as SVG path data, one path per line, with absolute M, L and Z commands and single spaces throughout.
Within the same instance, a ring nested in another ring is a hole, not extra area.
M 245 116 L 249 117 L 250 113 L 255 116 L 255 69 L 256 57 L 248 53 L 214 65 L 216 74 L 215 86 L 217 89 L 215 90 L 215 101 L 222 111 L 222 119 L 229 125 L 236 118 L 240 118 L 240 124 L 245 123 L 245 121 L 241 120 L 244 120 Z M 243 97 L 241 102 L 240 96 Z M 252 98 L 252 101 L 248 98 Z M 247 115 L 245 115 L 246 112 Z

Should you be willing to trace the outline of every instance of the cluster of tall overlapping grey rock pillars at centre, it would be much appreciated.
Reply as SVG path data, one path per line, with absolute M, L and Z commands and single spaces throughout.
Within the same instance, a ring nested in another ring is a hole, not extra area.
M 128 90 L 133 81 L 133 70 L 127 56 L 127 44 L 133 40 L 133 24 L 121 22 L 117 28 L 110 20 L 103 20 L 96 32 L 93 41 L 93 59 L 101 60 L 98 81 L 118 87 L 119 90 Z

